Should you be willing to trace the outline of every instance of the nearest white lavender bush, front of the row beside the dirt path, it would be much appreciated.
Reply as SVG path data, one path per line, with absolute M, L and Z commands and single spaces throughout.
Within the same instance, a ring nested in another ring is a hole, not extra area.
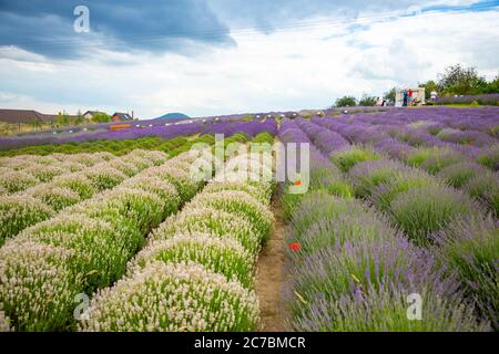
M 152 262 L 100 291 L 88 315 L 81 331 L 252 331 L 258 300 L 200 264 Z

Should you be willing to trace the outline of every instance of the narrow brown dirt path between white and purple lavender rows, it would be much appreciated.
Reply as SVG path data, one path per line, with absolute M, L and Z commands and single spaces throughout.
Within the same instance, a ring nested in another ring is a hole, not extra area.
M 283 284 L 285 281 L 284 260 L 285 236 L 283 208 L 279 205 L 278 197 L 272 200 L 272 211 L 276 222 L 274 231 L 262 250 L 256 270 L 256 295 L 261 308 L 261 331 L 262 332 L 282 332 L 284 331 L 284 305 L 283 305 Z

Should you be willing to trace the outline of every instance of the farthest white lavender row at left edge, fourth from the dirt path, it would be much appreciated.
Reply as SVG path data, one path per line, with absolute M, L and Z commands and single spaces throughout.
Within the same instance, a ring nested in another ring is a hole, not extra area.
M 23 191 L 53 178 L 116 159 L 111 153 L 0 157 L 0 196 Z

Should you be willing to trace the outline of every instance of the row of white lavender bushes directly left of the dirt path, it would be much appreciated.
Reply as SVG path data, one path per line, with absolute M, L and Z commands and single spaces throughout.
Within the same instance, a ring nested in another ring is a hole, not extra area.
M 255 263 L 274 221 L 274 184 L 261 177 L 272 170 L 272 158 L 266 164 L 253 154 L 230 162 L 237 171 L 217 173 L 150 235 L 126 275 L 93 298 L 80 331 L 256 329 Z M 241 167 L 248 165 L 259 173 Z

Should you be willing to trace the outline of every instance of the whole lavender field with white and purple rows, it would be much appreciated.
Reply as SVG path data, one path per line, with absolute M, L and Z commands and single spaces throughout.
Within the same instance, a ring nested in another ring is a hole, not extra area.
M 304 112 L 0 138 L 0 331 L 498 331 L 499 108 Z

